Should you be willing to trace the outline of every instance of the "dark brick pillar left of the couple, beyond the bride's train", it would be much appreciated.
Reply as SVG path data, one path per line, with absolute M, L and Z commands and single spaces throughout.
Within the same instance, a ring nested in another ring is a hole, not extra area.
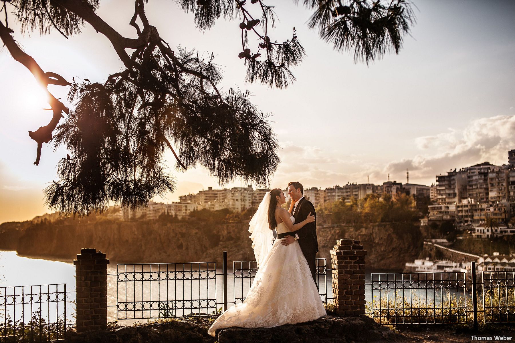
M 77 287 L 77 332 L 107 329 L 106 254 L 80 249 L 73 260 Z

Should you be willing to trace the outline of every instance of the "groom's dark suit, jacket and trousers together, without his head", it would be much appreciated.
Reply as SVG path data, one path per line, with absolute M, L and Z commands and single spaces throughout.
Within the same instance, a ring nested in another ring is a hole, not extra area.
M 295 211 L 293 212 L 293 216 L 295 218 L 295 223 L 300 223 L 303 220 L 307 218 L 308 214 L 315 215 L 315 207 L 313 204 L 306 200 L 305 198 L 302 198 L 299 203 L 297 204 L 297 207 Z M 294 234 L 297 233 L 299 236 L 299 242 L 300 249 L 302 250 L 302 254 L 304 254 L 304 257 L 306 258 L 307 265 L 310 266 L 311 275 L 313 276 L 313 281 L 315 281 L 315 284 L 317 283 L 317 279 L 315 277 L 316 274 L 316 266 L 315 266 L 315 257 L 318 252 L 318 240 L 317 240 L 317 225 L 316 221 L 313 223 L 307 223 L 302 228 L 295 232 L 288 232 L 286 234 L 279 234 L 277 238 L 284 238 L 284 236 L 287 236 L 288 234 L 291 234 L 291 236 L 294 236 Z

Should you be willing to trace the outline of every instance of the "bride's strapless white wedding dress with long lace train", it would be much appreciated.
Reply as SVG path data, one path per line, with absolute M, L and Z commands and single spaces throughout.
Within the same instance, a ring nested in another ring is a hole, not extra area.
M 291 221 L 295 219 L 291 217 Z M 289 232 L 284 223 L 277 225 L 276 231 Z M 222 313 L 208 333 L 215 336 L 220 328 L 271 328 L 302 323 L 325 314 L 299 243 L 284 246 L 277 239 L 261 263 L 247 298 Z

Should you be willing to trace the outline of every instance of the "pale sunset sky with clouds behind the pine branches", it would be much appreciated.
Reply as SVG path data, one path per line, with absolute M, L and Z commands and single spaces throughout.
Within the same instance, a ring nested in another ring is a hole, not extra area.
M 300 2 L 302 3 L 302 2 Z M 277 134 L 281 164 L 271 188 L 293 180 L 305 188 L 347 183 L 382 184 L 391 180 L 431 185 L 435 175 L 483 161 L 507 163 L 515 149 L 515 2 L 493 0 L 414 0 L 417 23 L 404 39 L 399 55 L 386 55 L 366 65 L 349 52 L 337 52 L 305 23 L 311 11 L 282 1 L 273 39 L 284 41 L 296 27 L 307 56 L 294 69 L 297 81 L 286 89 L 245 83 L 238 21 L 219 20 L 200 32 L 192 13 L 172 1 L 150 0 L 145 6 L 151 25 L 170 46 L 213 51 L 222 67 L 222 89 L 249 89 L 252 102 Z M 250 4 L 249 4 L 250 5 Z M 127 0 L 102 0 L 97 13 L 125 37 L 133 5 Z M 14 22 L 11 15 L 10 23 Z M 108 40 L 85 26 L 66 40 L 53 32 L 15 38 L 45 71 L 67 80 L 104 82 L 122 63 Z M 27 131 L 49 121 L 42 91 L 25 67 L 0 47 L 0 223 L 22 221 L 50 212 L 42 189 L 56 179 L 56 166 L 66 155 L 44 145 L 41 163 L 33 165 L 36 143 Z M 51 86 L 56 97 L 67 88 Z M 166 166 L 174 165 L 167 153 Z M 221 188 L 203 168 L 179 172 L 173 194 L 156 201 L 177 201 L 179 195 L 208 187 Z M 235 180 L 224 187 L 246 186 Z M 253 185 L 255 186 L 255 185 Z

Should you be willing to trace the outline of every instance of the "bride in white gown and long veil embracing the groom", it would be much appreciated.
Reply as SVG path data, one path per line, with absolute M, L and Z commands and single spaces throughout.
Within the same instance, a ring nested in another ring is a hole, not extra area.
M 280 207 L 285 202 L 283 191 L 272 189 L 265 194 L 252 217 L 249 232 L 258 272 L 244 302 L 231 306 L 213 322 L 208 330 L 211 336 L 221 328 L 271 328 L 312 321 L 325 315 L 299 243 L 282 245 L 278 239 L 272 245 L 273 229 L 277 233 L 297 231 L 315 221 L 310 213 L 304 221 L 294 224 L 290 212 Z M 290 206 L 290 211 L 292 209 Z

